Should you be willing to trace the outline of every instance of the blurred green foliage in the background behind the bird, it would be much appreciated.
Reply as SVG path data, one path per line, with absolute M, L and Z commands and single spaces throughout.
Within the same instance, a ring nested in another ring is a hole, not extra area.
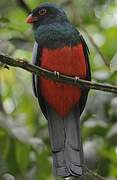
M 33 9 L 46 0 L 25 2 Z M 64 7 L 69 18 L 74 22 L 73 11 L 80 14 L 84 27 L 111 67 L 104 65 L 78 25 L 90 48 L 93 80 L 116 85 L 117 0 L 74 0 L 74 3 L 75 9 L 71 9 L 70 4 Z M 16 0 L 0 1 L 0 52 L 31 61 L 34 37 L 26 17 Z M 82 115 L 82 137 L 87 166 L 109 180 L 117 179 L 115 94 L 90 91 Z M 51 166 L 47 121 L 33 96 L 31 74 L 14 68 L 0 69 L 0 179 L 55 179 Z

